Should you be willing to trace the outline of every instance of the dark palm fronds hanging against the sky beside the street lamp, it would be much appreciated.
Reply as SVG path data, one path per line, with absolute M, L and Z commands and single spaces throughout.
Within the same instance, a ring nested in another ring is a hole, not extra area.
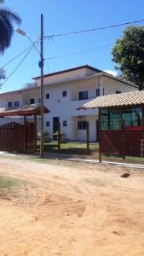
M 4 0 L 0 0 L 0 4 Z M 20 16 L 13 13 L 10 9 L 0 8 L 0 54 L 11 44 L 11 38 L 14 33 L 13 22 L 20 25 Z

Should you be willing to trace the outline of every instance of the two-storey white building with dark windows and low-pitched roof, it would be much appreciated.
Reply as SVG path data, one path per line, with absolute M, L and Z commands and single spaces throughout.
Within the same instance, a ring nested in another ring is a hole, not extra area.
M 40 77 L 34 79 L 37 81 L 34 88 L 0 94 L 1 108 L 39 102 Z M 96 96 L 135 90 L 138 87 L 134 84 L 88 65 L 44 75 L 44 105 L 50 110 L 44 115 L 44 131 L 48 131 L 49 137 L 53 138 L 57 123 L 60 122 L 60 131 L 67 139 L 84 141 L 85 121 L 89 121 L 89 139 L 95 142 L 98 111 L 90 109 L 85 112 L 77 108 Z M 21 122 L 20 119 L 16 121 Z M 9 122 L 9 119 L 0 120 L 0 124 L 3 122 Z

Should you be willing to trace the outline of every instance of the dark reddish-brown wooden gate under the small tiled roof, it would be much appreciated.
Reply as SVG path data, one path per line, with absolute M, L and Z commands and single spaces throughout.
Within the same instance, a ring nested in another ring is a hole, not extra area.
M 33 123 L 11 122 L 0 126 L 0 151 L 32 153 L 36 149 Z

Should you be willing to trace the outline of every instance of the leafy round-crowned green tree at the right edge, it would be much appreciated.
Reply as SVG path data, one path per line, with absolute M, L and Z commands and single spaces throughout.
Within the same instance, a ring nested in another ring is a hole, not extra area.
M 112 49 L 112 61 L 117 63 L 124 79 L 144 90 L 144 26 L 128 26 Z

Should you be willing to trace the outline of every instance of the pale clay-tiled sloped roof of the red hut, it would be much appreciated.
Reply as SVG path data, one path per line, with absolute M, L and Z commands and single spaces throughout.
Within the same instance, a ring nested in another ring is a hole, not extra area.
M 144 90 L 100 96 L 82 105 L 79 109 L 112 108 L 144 104 Z

